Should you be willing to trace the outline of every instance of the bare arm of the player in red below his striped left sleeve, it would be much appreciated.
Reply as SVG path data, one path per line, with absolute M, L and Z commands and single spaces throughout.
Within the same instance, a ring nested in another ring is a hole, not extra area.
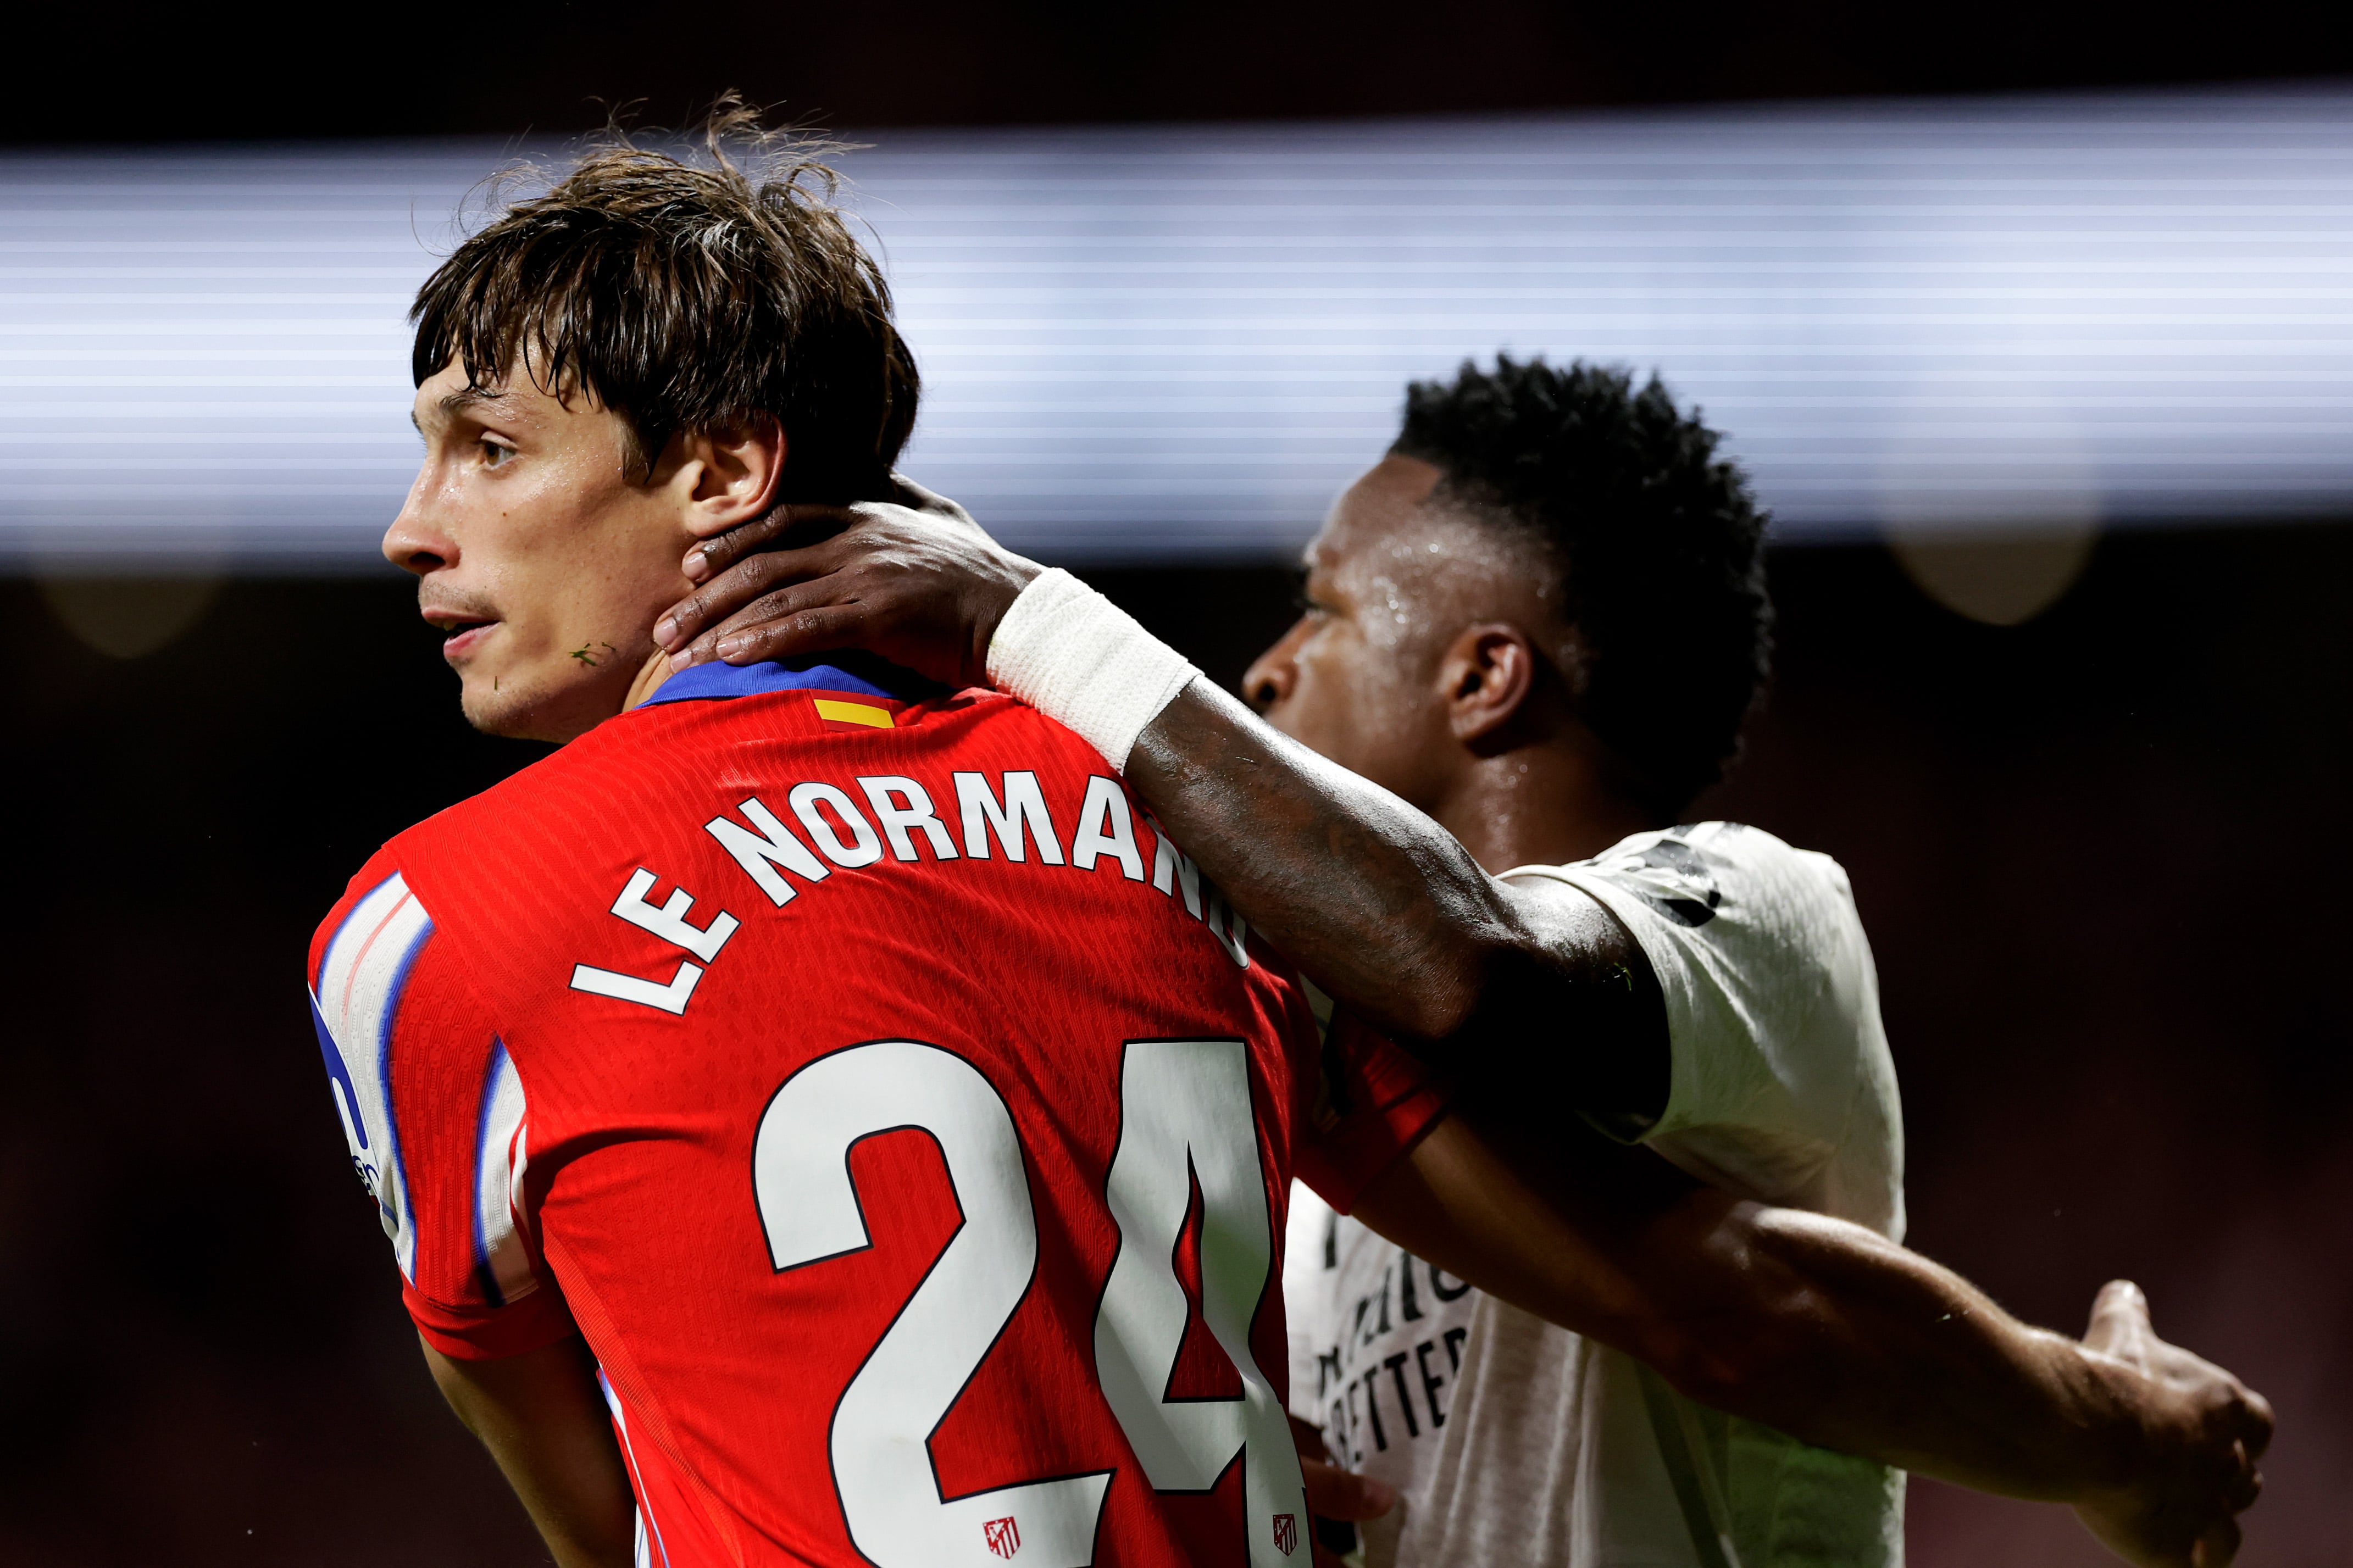
M 424 1345 L 442 1399 L 482 1439 L 558 1568 L 631 1568 L 638 1502 L 588 1347 L 456 1361 Z

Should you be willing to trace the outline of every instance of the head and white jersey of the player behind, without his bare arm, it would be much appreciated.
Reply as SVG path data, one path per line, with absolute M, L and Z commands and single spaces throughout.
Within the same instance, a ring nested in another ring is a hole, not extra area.
M 1845 872 L 1755 827 L 1664 827 L 1715 783 L 1767 656 L 1762 517 L 1713 447 L 1657 381 L 1605 369 L 1412 388 L 1245 693 L 1633 938 L 1664 1027 L 1572 1093 L 1588 1128 L 1901 1241 L 1897 1074 Z M 1285 1295 L 1294 1413 L 1400 1497 L 1365 1526 L 1369 1563 L 1901 1561 L 1901 1472 L 1694 1403 L 1313 1199 Z

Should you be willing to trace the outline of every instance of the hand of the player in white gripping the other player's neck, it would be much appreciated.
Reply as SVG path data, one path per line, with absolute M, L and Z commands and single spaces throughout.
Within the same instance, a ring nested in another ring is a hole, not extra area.
M 953 501 L 892 482 L 896 501 L 779 505 L 689 550 L 696 590 L 654 623 L 671 668 L 866 649 L 948 686 L 981 684 L 988 639 L 1040 567 Z

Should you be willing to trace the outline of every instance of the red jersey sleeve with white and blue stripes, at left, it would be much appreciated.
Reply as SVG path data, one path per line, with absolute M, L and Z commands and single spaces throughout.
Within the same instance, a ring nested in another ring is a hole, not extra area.
M 567 1338 L 572 1316 L 532 1244 L 522 1081 L 388 856 L 311 945 L 311 1016 L 353 1171 L 426 1342 L 480 1361 Z

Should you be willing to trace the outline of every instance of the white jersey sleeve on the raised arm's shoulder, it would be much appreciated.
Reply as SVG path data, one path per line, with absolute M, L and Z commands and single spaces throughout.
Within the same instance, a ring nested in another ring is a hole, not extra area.
M 1666 999 L 1673 1081 L 1638 1138 L 1715 1185 L 1788 1201 L 1894 1105 L 1878 971 L 1847 875 L 1758 827 L 1642 832 L 1567 882 L 1633 933 Z M 1885 1081 L 1882 1081 L 1885 1079 Z

